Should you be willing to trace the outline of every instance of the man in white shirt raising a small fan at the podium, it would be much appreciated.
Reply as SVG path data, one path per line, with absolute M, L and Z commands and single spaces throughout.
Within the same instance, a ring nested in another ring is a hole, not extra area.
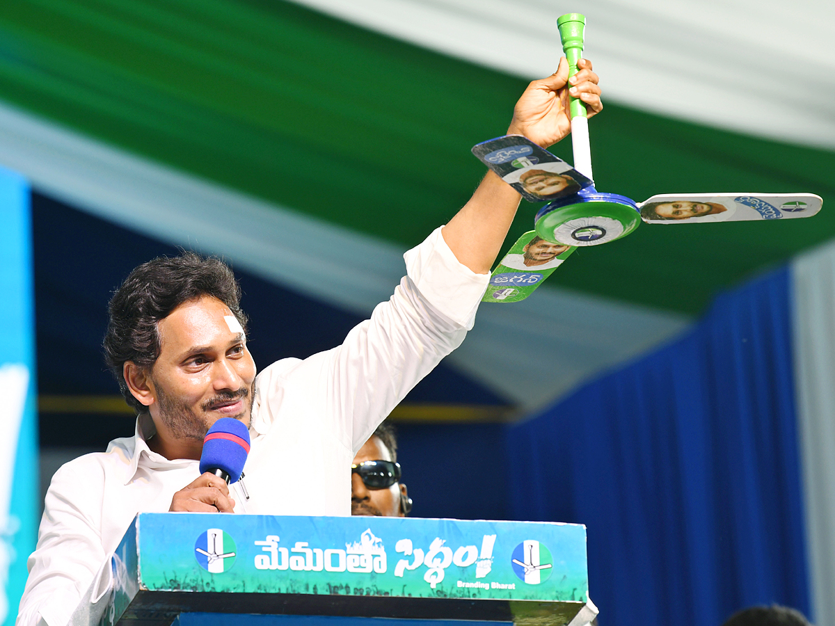
M 600 111 L 597 75 L 588 61 L 579 68 L 570 86 L 565 59 L 530 83 L 509 134 L 544 147 L 563 139 L 569 91 Z M 341 346 L 257 376 L 240 290 L 220 261 L 186 254 L 134 270 L 111 300 L 105 351 L 136 433 L 56 472 L 18 626 L 64 626 L 137 512 L 350 515 L 354 455 L 472 328 L 518 204 L 488 173 L 448 225 L 406 253 L 391 300 Z M 250 428 L 248 498 L 240 482 L 200 475 L 203 437 L 220 417 Z

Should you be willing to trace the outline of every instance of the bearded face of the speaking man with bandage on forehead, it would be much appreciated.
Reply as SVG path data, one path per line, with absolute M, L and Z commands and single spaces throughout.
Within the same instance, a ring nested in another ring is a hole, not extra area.
M 185 302 L 159 321 L 158 331 L 159 357 L 150 372 L 154 421 L 176 439 L 201 442 L 220 417 L 249 426 L 256 365 L 229 307 L 210 296 Z

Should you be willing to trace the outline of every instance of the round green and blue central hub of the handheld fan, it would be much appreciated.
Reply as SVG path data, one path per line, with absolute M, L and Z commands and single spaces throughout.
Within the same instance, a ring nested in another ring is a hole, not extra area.
M 640 224 L 635 202 L 594 187 L 554 200 L 536 214 L 536 234 L 564 245 L 601 245 L 629 235 Z

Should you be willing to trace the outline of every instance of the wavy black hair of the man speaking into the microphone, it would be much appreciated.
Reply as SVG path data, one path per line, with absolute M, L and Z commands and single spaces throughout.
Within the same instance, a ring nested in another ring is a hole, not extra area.
M 150 368 L 159 357 L 157 322 L 178 306 L 209 295 L 223 302 L 246 329 L 247 317 L 240 310 L 240 285 L 222 260 L 184 252 L 160 256 L 139 265 L 115 290 L 108 306 L 109 321 L 104 335 L 104 360 L 119 382 L 124 401 L 138 414 L 145 407 L 131 395 L 124 381 L 124 362 Z

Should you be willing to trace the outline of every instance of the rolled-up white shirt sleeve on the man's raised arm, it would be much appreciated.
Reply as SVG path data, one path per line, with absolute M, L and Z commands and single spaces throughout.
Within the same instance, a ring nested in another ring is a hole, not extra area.
M 394 295 L 330 351 L 322 376 L 325 410 L 339 416 L 355 454 L 412 387 L 461 345 L 487 289 L 489 275 L 458 262 L 440 228 L 404 258 L 407 276 Z

